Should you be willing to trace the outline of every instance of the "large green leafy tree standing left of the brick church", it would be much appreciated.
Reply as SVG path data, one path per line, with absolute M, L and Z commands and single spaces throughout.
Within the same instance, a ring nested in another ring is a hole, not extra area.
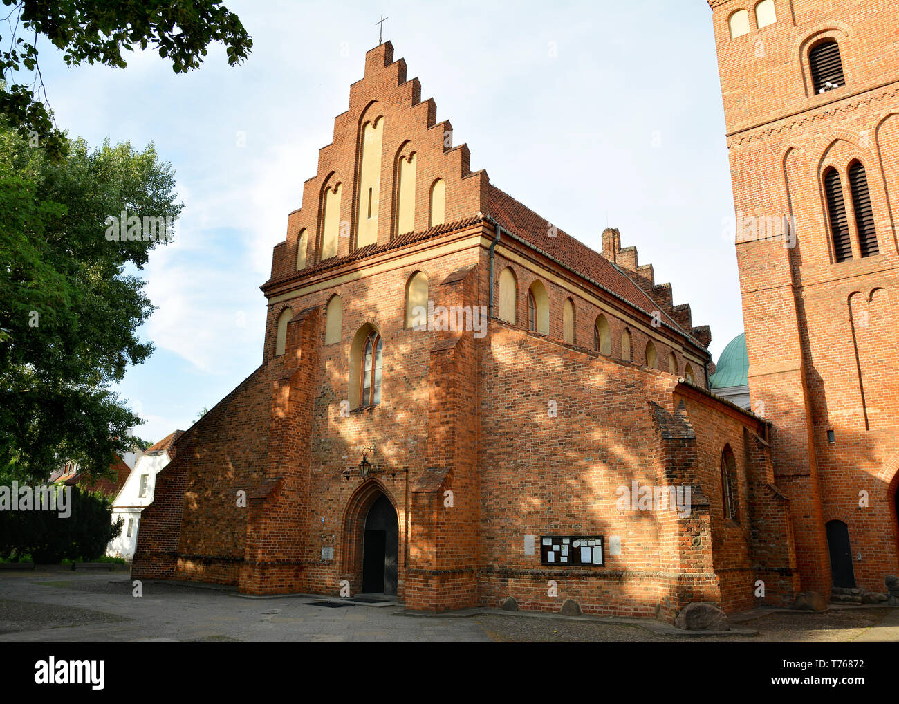
M 142 421 L 111 385 L 153 352 L 134 270 L 168 241 L 143 224 L 178 218 L 174 186 L 152 145 L 79 139 L 54 161 L 0 129 L 0 468 L 14 477 L 41 481 L 63 461 L 99 477 L 132 448 Z M 122 211 L 140 229 L 111 239 Z

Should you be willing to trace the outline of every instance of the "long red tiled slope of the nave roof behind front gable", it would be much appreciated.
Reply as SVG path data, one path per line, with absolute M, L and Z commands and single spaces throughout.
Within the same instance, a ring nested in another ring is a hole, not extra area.
M 490 214 L 502 227 L 564 263 L 574 272 L 611 290 L 632 306 L 644 311 L 647 316 L 652 316 L 654 310 L 659 310 L 665 323 L 681 334 L 691 337 L 690 333 L 661 310 L 644 290 L 640 289 L 634 281 L 631 281 L 624 272 L 621 272 L 604 256 L 557 227 L 553 230 L 554 236 L 549 236 L 551 220 L 541 218 L 508 193 L 496 188 L 493 183 L 489 184 L 488 188 L 490 189 L 488 197 Z

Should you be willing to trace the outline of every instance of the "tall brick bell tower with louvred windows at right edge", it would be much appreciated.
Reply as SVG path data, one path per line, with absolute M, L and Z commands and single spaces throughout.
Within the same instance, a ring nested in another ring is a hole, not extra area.
M 802 588 L 882 593 L 899 573 L 899 11 L 708 4 L 752 410 L 773 426 Z

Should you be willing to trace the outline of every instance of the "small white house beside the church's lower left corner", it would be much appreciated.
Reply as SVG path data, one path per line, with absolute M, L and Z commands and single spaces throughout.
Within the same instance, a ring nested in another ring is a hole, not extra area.
M 124 557 L 130 560 L 138 546 L 138 525 L 140 512 L 145 506 L 153 503 L 153 490 L 156 488 L 156 475 L 174 458 L 174 441 L 184 431 L 175 431 L 163 440 L 138 455 L 137 462 L 119 495 L 112 502 L 112 522 L 123 518 L 124 525 L 118 538 L 112 539 L 106 548 L 111 557 Z

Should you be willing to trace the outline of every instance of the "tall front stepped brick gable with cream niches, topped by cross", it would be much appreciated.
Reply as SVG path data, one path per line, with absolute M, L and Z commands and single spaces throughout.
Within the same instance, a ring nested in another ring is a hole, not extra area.
M 271 279 L 263 290 L 275 283 L 299 278 L 311 271 L 321 261 L 322 217 L 325 192 L 339 186 L 341 191 L 339 220 L 347 232 L 342 231 L 336 257 L 356 254 L 360 217 L 359 193 L 362 166 L 360 145 L 367 123 L 381 122 L 383 134 L 380 158 L 379 192 L 375 199 L 377 213 L 376 242 L 365 255 L 376 248 L 392 245 L 405 232 L 396 232 L 396 212 L 392 208 L 391 192 L 396 183 L 397 160 L 416 155 L 416 207 L 411 231 L 421 233 L 431 229 L 428 222 L 429 189 L 441 178 L 446 189 L 444 223 L 458 223 L 485 210 L 482 202 L 485 171 L 472 172 L 467 145 L 453 146 L 453 129 L 449 120 L 437 121 L 437 105 L 432 98 L 422 100 L 422 85 L 418 78 L 406 79 L 405 60 L 393 58 L 394 49 L 389 41 L 370 49 L 365 55 L 364 77 L 350 86 L 348 110 L 334 118 L 334 138 L 331 144 L 318 152 L 316 175 L 303 183 L 302 207 L 288 216 L 287 237 L 274 247 Z M 296 271 L 298 240 L 306 230 L 306 268 Z M 435 233 L 431 233 L 433 235 Z M 374 246 L 373 246 L 374 245 Z M 328 264 L 330 266 L 330 263 Z

